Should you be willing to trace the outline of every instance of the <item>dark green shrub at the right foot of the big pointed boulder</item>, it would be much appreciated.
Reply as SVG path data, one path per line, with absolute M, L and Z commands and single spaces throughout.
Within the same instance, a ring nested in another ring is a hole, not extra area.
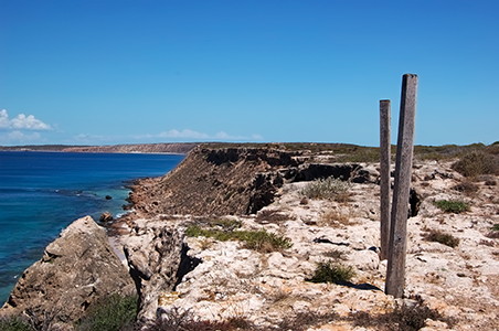
M 118 331 L 130 327 L 137 317 L 137 297 L 112 295 L 88 308 L 76 323 L 78 331 Z

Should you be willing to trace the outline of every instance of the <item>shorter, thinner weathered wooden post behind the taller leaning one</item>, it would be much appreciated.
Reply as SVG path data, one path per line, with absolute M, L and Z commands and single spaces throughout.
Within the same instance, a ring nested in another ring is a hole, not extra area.
M 390 100 L 380 100 L 380 258 L 389 256 L 390 243 Z

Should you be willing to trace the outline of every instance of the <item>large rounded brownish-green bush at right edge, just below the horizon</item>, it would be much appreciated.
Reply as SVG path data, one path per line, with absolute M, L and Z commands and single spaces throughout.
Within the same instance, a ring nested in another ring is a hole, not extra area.
M 466 177 L 499 174 L 499 159 L 492 153 L 474 151 L 454 163 L 453 169 Z

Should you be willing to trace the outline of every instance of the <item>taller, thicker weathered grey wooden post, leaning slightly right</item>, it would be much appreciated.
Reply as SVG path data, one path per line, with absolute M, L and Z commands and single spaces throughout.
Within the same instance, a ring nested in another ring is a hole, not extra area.
M 413 161 L 414 118 L 416 114 L 417 75 L 402 78 L 401 114 L 396 145 L 395 184 L 390 225 L 390 252 L 386 271 L 386 295 L 402 298 L 405 286 L 407 246 L 407 212 Z

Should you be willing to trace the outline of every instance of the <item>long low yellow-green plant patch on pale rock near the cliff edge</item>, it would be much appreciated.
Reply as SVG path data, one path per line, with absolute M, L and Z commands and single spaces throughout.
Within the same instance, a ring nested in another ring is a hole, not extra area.
M 220 242 L 240 241 L 244 243 L 244 247 L 263 253 L 290 248 L 293 246 L 289 238 L 274 233 L 268 233 L 265 229 L 221 231 L 215 228 L 202 228 L 198 225 L 192 225 L 185 229 L 185 235 L 190 237 L 211 237 Z

